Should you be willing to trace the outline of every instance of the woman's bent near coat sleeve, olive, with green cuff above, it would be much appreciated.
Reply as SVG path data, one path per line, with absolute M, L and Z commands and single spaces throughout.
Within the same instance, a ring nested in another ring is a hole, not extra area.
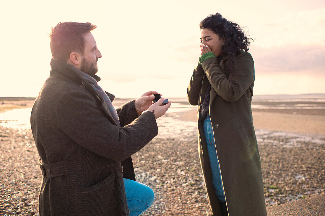
M 246 52 L 237 58 L 237 65 L 229 78 L 220 69 L 216 58 L 204 60 L 202 67 L 215 92 L 227 102 L 237 101 L 254 81 L 253 58 Z

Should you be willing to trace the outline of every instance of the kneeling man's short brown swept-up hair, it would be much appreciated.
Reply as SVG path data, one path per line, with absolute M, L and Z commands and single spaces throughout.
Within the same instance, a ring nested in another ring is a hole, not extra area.
M 72 52 L 84 54 L 84 35 L 96 25 L 90 22 L 59 22 L 49 33 L 52 57 L 67 62 Z

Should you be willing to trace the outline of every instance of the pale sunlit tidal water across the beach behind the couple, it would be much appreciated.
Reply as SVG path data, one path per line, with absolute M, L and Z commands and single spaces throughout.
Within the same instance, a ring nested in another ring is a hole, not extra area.
M 196 106 L 189 105 L 186 98 L 171 98 L 172 106 L 167 111 L 166 115 L 157 119 L 157 125 L 159 129 L 159 134 L 157 138 L 173 138 L 179 141 L 189 141 L 193 137 L 197 136 L 197 123 L 181 120 L 179 115 L 183 111 L 196 109 Z M 125 99 L 116 99 L 114 102 L 120 104 L 125 101 Z M 125 101 L 126 102 L 126 101 Z M 263 105 L 264 102 L 279 102 L 283 104 L 283 109 L 286 107 L 296 107 L 299 109 L 324 109 L 325 107 L 325 94 L 316 95 L 263 95 L 254 96 L 253 102 L 256 106 L 262 109 L 276 109 L 275 105 L 270 107 L 268 104 Z M 261 104 L 258 104 L 261 102 Z M 289 105 L 288 105 L 289 102 Z M 292 103 L 294 102 L 294 103 Z M 317 103 L 317 105 L 315 105 Z M 271 103 L 270 103 L 271 104 Z M 297 104 L 302 104 L 298 106 Z M 115 107 L 117 108 L 117 107 Z M 0 125 L 4 127 L 11 128 L 21 128 L 30 129 L 30 115 L 31 108 L 25 109 L 15 109 L 7 111 L 5 113 L 0 113 Z M 312 142 L 318 145 L 325 144 L 325 136 L 322 135 L 304 135 L 304 134 L 294 134 L 287 132 L 276 132 L 268 130 L 255 130 L 257 141 L 259 145 L 266 143 L 277 144 L 277 139 L 272 137 L 283 137 L 287 138 L 287 141 L 283 143 L 285 147 L 299 146 L 301 143 Z

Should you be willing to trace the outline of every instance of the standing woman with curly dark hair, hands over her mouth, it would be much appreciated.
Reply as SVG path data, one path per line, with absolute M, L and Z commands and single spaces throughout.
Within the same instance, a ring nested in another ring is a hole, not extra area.
M 249 38 L 216 13 L 203 19 L 201 57 L 188 86 L 198 105 L 198 148 L 214 216 L 266 215 L 251 101 Z

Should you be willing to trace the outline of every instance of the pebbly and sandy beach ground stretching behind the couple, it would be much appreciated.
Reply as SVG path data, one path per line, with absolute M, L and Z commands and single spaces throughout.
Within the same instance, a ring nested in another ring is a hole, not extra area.
M 155 192 L 142 215 L 212 215 L 196 108 L 184 104 L 172 100 L 175 109 L 157 120 L 159 135 L 132 156 L 137 181 Z M 267 207 L 325 193 L 324 110 L 288 110 L 253 109 Z M 38 215 L 42 174 L 31 130 L 0 123 L 0 215 Z

